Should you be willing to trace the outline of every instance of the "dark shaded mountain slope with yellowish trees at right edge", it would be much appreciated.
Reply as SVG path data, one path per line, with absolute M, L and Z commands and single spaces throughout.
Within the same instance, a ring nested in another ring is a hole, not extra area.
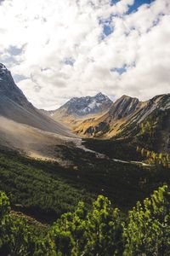
M 155 96 L 135 113 L 116 138 L 133 137 L 141 147 L 170 152 L 170 94 Z

